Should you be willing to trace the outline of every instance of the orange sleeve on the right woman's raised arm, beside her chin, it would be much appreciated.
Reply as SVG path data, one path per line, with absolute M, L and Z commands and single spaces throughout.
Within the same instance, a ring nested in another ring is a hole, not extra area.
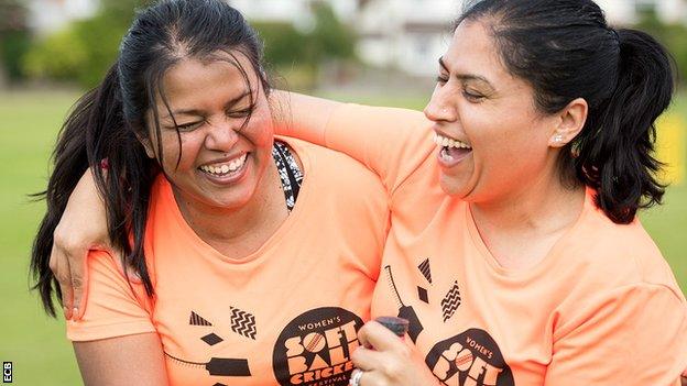
M 391 196 L 433 153 L 429 125 L 419 111 L 349 103 L 331 113 L 324 141 L 374 172 Z

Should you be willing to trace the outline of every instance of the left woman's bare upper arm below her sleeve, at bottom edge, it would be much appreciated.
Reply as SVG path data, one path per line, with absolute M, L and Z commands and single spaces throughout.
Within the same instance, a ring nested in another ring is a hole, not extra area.
M 86 386 L 167 385 L 156 333 L 74 342 L 74 352 Z

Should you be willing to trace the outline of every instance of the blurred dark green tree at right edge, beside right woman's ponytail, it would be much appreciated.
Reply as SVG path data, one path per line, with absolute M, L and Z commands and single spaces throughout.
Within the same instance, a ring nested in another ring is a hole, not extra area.
M 668 48 L 677 64 L 677 75 L 680 84 L 687 81 L 687 25 L 667 24 L 658 19 L 653 8 L 642 10 L 639 30 L 650 33 Z

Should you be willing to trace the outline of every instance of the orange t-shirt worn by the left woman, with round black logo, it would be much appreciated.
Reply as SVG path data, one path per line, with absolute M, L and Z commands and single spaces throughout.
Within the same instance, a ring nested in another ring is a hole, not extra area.
M 157 332 L 174 385 L 348 385 L 379 275 L 388 197 L 347 156 L 284 141 L 305 177 L 290 217 L 259 251 L 236 261 L 206 244 L 160 176 L 145 233 L 155 297 L 130 286 L 117 258 L 92 252 L 86 311 L 67 323 L 68 338 Z

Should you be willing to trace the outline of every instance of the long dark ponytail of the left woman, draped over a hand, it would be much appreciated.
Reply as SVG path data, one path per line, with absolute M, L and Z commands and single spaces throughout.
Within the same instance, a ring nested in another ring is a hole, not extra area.
M 133 129 L 124 122 L 117 64 L 100 86 L 76 102 L 62 126 L 52 158 L 54 169 L 47 189 L 37 195 L 45 198 L 47 210 L 34 240 L 31 260 L 33 288 L 39 290 L 46 312 L 55 316 L 53 291 L 62 301 L 57 278 L 50 268 L 53 232 L 72 191 L 89 167 L 105 197 L 109 238 L 115 247 L 123 251 L 124 266 L 141 277 L 148 294 L 152 295 L 143 234 L 156 169 L 155 163 L 145 156 Z M 101 159 L 108 159 L 107 176 L 100 167 Z

